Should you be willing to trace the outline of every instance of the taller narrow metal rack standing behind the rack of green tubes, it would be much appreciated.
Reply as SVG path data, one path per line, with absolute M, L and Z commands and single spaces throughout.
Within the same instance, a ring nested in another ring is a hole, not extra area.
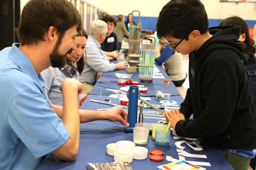
M 133 23 L 134 13 L 138 13 L 138 23 Z M 141 37 L 141 20 L 140 11 L 132 11 L 132 20 L 130 21 L 129 35 L 129 52 L 128 52 L 128 72 L 137 72 L 137 65 L 140 64 L 140 37 Z

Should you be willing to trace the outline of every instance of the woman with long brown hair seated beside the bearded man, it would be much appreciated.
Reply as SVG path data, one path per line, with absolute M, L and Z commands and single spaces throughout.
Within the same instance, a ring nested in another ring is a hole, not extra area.
M 44 77 L 44 89 L 48 93 L 49 99 L 52 104 L 62 105 L 62 92 L 59 85 L 65 78 L 76 78 L 84 69 L 84 62 L 86 57 L 85 45 L 87 43 L 87 33 L 82 29 L 75 38 L 76 49 L 71 54 L 66 55 L 66 64 L 64 68 L 53 68 L 52 66 L 41 72 Z

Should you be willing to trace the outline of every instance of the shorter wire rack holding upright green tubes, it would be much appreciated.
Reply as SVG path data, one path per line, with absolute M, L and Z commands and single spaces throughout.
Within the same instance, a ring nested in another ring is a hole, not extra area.
M 154 74 L 154 59 L 155 59 L 155 38 L 154 44 L 148 44 L 143 39 L 148 38 L 143 36 L 141 38 L 141 54 L 140 54 L 140 81 L 152 82 Z

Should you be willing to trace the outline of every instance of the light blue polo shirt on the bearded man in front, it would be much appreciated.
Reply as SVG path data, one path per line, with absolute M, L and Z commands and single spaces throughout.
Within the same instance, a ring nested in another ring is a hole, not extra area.
M 0 51 L 0 170 L 34 170 L 70 136 L 18 46 Z

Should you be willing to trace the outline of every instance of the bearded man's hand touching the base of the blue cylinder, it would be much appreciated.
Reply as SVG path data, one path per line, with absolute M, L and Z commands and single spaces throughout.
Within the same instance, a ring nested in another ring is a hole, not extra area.
M 128 119 L 128 114 L 126 111 L 121 108 L 121 107 L 113 107 L 111 109 L 106 110 L 106 118 L 109 121 L 112 122 L 120 122 L 125 126 L 130 126 L 129 123 L 127 122 Z

